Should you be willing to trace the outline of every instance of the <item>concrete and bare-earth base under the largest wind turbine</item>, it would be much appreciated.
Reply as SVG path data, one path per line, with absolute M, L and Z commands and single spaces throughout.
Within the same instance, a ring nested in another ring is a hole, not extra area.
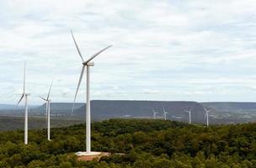
M 77 155 L 77 160 L 90 161 L 90 160 L 100 160 L 101 157 L 109 156 L 111 154 L 108 153 L 108 152 L 95 152 L 95 151 L 92 151 L 90 153 L 87 153 L 87 152 L 79 151 L 79 152 L 76 153 L 76 155 Z

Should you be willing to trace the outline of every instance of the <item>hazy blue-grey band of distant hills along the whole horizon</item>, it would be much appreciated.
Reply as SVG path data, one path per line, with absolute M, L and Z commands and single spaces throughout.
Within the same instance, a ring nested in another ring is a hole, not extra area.
M 51 115 L 61 118 L 85 118 L 85 103 L 75 103 L 71 116 L 72 102 L 51 102 Z M 211 109 L 210 124 L 248 123 L 256 121 L 256 102 L 185 102 L 185 101 L 126 101 L 126 100 L 93 100 L 91 101 L 92 119 L 108 118 L 152 118 L 152 109 L 163 119 L 163 108 L 171 120 L 188 122 L 189 114 L 184 110 L 192 109 L 192 123 L 205 123 L 204 108 Z M 0 110 L 2 116 L 23 116 L 24 108 Z M 45 104 L 30 108 L 29 116 L 44 116 Z

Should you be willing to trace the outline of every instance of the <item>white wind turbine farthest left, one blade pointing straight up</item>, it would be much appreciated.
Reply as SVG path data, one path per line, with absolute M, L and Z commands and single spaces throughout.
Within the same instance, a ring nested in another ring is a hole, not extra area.
M 26 62 L 24 63 L 24 79 L 23 79 L 23 93 L 19 99 L 19 102 L 25 99 L 25 115 L 24 115 L 24 144 L 28 144 L 28 97 L 30 96 L 29 93 L 25 90 L 25 79 L 26 79 Z M 19 105 L 17 103 L 17 106 Z

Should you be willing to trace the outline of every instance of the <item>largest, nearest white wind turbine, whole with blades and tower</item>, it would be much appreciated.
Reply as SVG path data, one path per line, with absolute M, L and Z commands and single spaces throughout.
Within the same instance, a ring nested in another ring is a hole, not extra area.
M 74 35 L 72 33 L 71 30 L 71 34 L 72 34 L 72 39 L 76 45 L 77 48 L 77 52 L 81 58 L 81 60 L 83 61 L 82 64 L 82 71 L 79 77 L 79 81 L 78 81 L 78 85 L 77 85 L 77 92 L 79 90 L 81 81 L 83 79 L 83 72 L 85 70 L 85 66 L 86 66 L 86 70 L 87 70 L 87 76 L 86 76 L 86 81 L 87 81 L 87 85 L 86 85 L 86 153 L 88 155 L 91 154 L 91 110 L 90 110 L 90 66 L 94 66 L 94 63 L 91 62 L 91 60 L 93 60 L 93 58 L 95 58 L 97 55 L 99 55 L 100 53 L 102 53 L 104 50 L 109 49 L 109 47 L 111 47 L 112 45 L 109 45 L 108 47 L 104 48 L 103 50 L 100 50 L 99 52 L 95 53 L 94 55 L 92 55 L 88 60 L 83 60 L 83 56 L 78 48 L 76 39 L 74 38 Z M 76 98 L 77 98 L 77 92 L 74 98 L 74 102 L 76 102 Z M 73 113 L 73 109 L 74 109 L 74 103 L 73 103 L 73 107 L 72 107 L 72 113 Z

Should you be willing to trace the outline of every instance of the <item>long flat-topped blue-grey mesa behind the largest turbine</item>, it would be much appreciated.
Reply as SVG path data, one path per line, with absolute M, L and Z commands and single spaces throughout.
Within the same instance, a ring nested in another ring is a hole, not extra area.
M 198 102 L 163 102 L 163 101 L 119 101 L 93 100 L 91 102 L 92 118 L 152 118 L 152 109 L 163 118 L 163 108 L 168 112 L 168 119 L 187 121 L 188 113 L 184 110 L 194 109 L 192 120 L 202 122 L 204 109 Z M 74 115 L 84 116 L 85 106 L 77 108 Z

